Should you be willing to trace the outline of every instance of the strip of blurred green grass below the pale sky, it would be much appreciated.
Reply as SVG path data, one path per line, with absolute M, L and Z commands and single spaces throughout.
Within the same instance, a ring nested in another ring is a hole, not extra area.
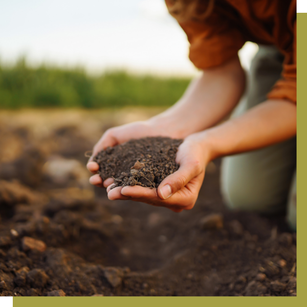
M 95 77 L 79 68 L 31 68 L 20 58 L 12 66 L 0 64 L 0 108 L 169 106 L 189 82 L 123 71 Z

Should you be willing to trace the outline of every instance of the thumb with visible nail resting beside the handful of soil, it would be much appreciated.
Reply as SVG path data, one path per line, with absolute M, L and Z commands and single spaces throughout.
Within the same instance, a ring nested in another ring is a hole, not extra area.
M 171 195 L 182 189 L 188 182 L 202 172 L 199 161 L 182 163 L 179 169 L 167 176 L 158 187 L 160 198 L 166 200 Z

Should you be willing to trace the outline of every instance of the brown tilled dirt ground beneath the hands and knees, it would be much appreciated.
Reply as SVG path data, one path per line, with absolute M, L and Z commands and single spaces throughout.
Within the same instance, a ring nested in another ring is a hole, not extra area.
M 0 296 L 296 296 L 296 234 L 228 210 L 220 160 L 181 213 L 88 183 L 103 131 L 160 111 L 0 113 Z

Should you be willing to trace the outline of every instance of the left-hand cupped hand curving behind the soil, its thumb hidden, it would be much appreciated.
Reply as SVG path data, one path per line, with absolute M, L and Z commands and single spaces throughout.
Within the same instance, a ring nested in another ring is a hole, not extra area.
M 129 141 L 130 139 L 140 139 L 143 137 L 155 137 L 161 135 L 163 135 L 163 133 L 161 133 L 157 127 L 150 124 L 148 121 L 138 121 L 107 129 L 94 146 L 93 154 L 86 165 L 87 169 L 89 169 L 94 174 L 94 176 L 90 178 L 90 183 L 98 187 L 106 188 L 114 182 L 113 178 L 107 178 L 103 181 L 99 174 L 97 174 L 99 165 L 93 161 L 93 158 L 99 151 L 109 146 L 113 147 L 115 145 L 122 144 Z

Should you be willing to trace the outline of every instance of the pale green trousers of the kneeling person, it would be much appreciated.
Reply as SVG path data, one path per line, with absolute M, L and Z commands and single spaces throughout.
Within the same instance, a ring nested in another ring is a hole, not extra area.
M 247 95 L 232 117 L 264 102 L 280 78 L 283 56 L 273 46 L 259 46 Z M 296 230 L 296 138 L 263 149 L 226 157 L 222 161 L 221 191 L 230 208 L 274 214 L 287 210 Z

